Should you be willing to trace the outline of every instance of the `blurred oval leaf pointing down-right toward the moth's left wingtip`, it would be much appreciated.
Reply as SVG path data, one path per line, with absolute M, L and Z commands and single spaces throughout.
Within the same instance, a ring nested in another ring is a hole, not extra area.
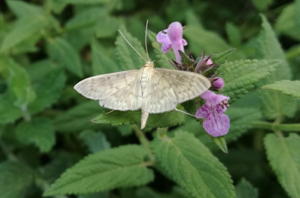
M 67 70 L 83 77 L 79 54 L 64 39 L 59 37 L 52 39 L 46 45 L 49 56 L 61 63 Z

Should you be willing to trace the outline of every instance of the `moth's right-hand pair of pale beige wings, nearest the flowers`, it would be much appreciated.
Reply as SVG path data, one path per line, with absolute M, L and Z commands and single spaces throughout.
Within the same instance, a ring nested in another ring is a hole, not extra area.
M 173 110 L 178 103 L 198 97 L 210 86 L 201 74 L 155 68 L 142 96 L 142 109 L 149 113 Z

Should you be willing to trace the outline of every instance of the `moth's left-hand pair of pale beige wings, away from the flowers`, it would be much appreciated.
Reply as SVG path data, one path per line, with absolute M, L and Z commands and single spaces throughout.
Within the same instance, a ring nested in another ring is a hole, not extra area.
M 121 71 L 86 78 L 74 86 L 77 92 L 100 106 L 121 111 L 141 108 L 139 70 Z

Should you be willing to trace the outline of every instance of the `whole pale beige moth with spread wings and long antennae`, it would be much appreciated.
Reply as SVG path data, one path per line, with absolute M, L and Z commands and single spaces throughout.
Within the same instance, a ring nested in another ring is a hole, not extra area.
M 148 21 L 145 42 L 147 26 Z M 119 32 L 128 42 L 123 33 Z M 176 109 L 177 104 L 198 97 L 211 86 L 210 81 L 198 73 L 154 68 L 154 61 L 149 59 L 147 44 L 148 61 L 130 42 L 128 44 L 145 60 L 146 64 L 142 68 L 89 77 L 77 83 L 74 89 L 86 98 L 99 100 L 99 105 L 108 109 L 141 109 L 143 129 L 149 113 Z

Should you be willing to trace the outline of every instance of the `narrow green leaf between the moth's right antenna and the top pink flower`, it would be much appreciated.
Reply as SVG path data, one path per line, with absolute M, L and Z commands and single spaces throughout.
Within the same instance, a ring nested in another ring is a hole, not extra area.
M 155 55 L 158 59 L 158 62 L 162 65 L 163 68 L 174 69 L 169 61 L 176 60 L 173 50 L 168 51 L 164 54 L 161 51 L 161 44 L 156 41 L 156 34 L 150 30 L 147 31 L 147 36 L 151 42 L 151 45 L 154 49 Z

